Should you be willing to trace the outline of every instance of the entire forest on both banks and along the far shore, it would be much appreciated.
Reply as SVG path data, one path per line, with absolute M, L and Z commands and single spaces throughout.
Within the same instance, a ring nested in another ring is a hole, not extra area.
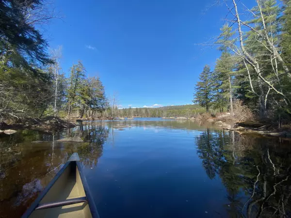
M 43 35 L 42 27 L 57 17 L 43 0 L 2 0 L 0 123 L 48 115 L 189 118 L 226 110 L 235 115 L 238 104 L 256 118 L 289 123 L 291 2 L 257 0 L 250 9 L 236 0 L 218 3 L 228 9 L 221 34 L 203 46 L 216 46 L 221 56 L 213 70 L 206 65 L 199 76 L 193 99 L 197 105 L 118 109 L 114 100 L 109 104 L 101 79 L 87 76 L 91 72 L 81 61 L 71 60 L 70 69 L 62 68 L 62 47 L 50 48 Z

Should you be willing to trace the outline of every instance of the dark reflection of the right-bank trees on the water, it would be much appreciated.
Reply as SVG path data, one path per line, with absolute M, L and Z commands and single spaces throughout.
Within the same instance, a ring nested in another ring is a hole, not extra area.
M 226 187 L 229 217 L 291 216 L 289 141 L 207 129 L 196 145 L 209 178 Z

